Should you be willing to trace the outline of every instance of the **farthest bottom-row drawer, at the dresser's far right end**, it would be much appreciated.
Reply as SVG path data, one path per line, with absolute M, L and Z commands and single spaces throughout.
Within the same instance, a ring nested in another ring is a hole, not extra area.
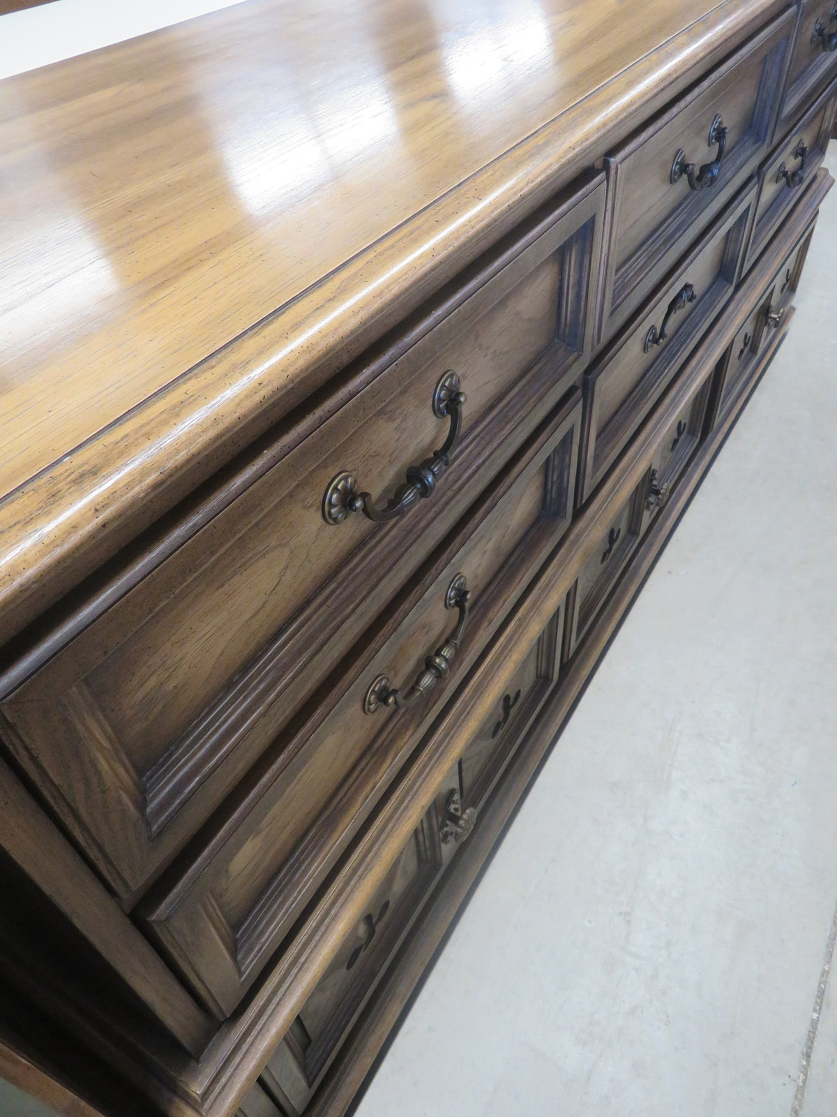
M 713 426 L 727 417 L 741 392 L 745 391 L 759 366 L 759 354 L 768 344 L 770 332 L 781 325 L 802 274 L 815 226 L 816 217 L 773 278 L 764 286 L 721 361 Z

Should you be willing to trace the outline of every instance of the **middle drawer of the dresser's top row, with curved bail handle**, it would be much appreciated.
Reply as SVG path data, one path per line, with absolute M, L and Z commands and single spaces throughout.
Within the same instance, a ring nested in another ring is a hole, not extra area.
M 787 12 L 605 160 L 610 235 L 600 340 L 627 321 L 767 154 L 792 30 Z

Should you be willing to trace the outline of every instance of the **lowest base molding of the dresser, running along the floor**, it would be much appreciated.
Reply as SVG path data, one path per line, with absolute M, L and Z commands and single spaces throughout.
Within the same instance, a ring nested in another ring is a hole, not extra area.
M 464 911 L 490 859 L 538 777 L 542 764 L 558 743 L 562 726 L 591 681 L 622 622 L 627 617 L 646 579 L 681 517 L 706 476 L 750 395 L 785 341 L 792 318 L 786 315 L 763 352 L 753 379 L 723 422 L 698 451 L 675 495 L 661 513 L 638 553 L 619 579 L 603 613 L 579 645 L 558 688 L 529 731 L 526 742 L 506 770 L 503 780 L 463 847 L 456 862 L 419 917 L 407 941 L 391 964 L 358 1023 L 306 1109 L 306 1117 L 343 1117 L 371 1081 L 383 1056 L 403 1022 L 411 999 L 417 993 L 444 945 L 444 939 Z

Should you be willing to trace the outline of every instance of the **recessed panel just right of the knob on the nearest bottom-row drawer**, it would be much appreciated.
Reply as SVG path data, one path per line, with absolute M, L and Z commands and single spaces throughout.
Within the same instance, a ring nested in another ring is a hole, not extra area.
M 564 613 L 561 605 L 502 688 L 490 717 L 463 752 L 459 767 L 465 810 L 478 811 L 485 802 L 555 686 L 561 658 Z

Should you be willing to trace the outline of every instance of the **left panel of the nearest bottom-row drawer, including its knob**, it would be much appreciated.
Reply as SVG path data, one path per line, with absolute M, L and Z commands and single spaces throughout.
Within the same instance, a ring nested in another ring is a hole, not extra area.
M 459 815 L 459 832 L 451 823 L 451 804 L 459 804 L 459 796 L 454 768 L 262 1071 L 261 1081 L 289 1114 L 305 1109 L 453 856 L 456 839 L 461 842 L 470 832 L 472 815 L 464 822 Z

